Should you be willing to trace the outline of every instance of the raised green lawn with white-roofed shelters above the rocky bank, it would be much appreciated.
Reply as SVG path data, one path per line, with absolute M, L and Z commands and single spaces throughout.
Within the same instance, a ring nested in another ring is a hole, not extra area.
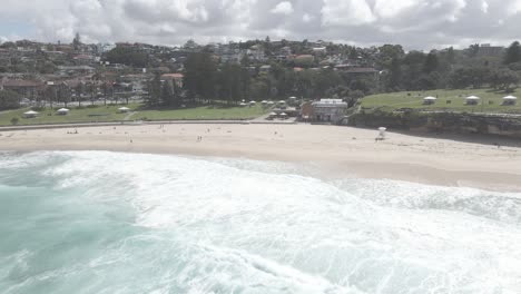
M 410 96 L 409 96 L 410 94 Z M 465 105 L 465 97 L 478 96 L 481 98 L 479 105 Z M 519 98 L 515 106 L 502 106 L 502 98 L 513 95 Z M 438 97 L 434 105 L 423 105 L 423 98 L 427 96 Z M 446 101 L 451 100 L 451 104 Z M 521 114 L 521 91 L 513 94 L 497 92 L 491 89 L 472 90 L 431 90 L 431 91 L 403 91 L 392 94 L 379 94 L 362 99 L 363 108 L 382 108 L 394 110 L 399 108 L 414 108 L 424 110 L 452 110 L 468 112 L 495 112 L 495 114 Z

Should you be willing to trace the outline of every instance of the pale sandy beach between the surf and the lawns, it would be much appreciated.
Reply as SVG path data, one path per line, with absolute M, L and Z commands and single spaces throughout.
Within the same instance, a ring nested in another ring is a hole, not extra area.
M 432 138 L 387 131 L 384 141 L 375 141 L 376 130 L 312 125 L 173 124 L 87 127 L 77 131 L 0 131 L 0 150 L 244 157 L 313 164 L 331 177 L 521 190 L 521 141 L 497 138 L 455 140 L 455 136 Z

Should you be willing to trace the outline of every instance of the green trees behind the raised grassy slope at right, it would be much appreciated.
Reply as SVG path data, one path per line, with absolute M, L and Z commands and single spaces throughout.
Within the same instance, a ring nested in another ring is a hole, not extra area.
M 380 48 L 380 66 L 384 69 L 383 91 L 463 89 L 493 87 L 510 91 L 520 81 L 521 46 L 513 42 L 502 58 L 478 58 L 479 45 L 465 50 L 404 52 L 399 45 Z

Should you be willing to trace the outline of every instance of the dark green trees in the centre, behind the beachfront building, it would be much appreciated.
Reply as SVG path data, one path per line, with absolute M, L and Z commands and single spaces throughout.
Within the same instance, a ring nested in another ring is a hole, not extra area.
M 377 90 L 374 75 L 354 77 L 331 68 L 295 70 L 277 62 L 254 67 L 246 58 L 240 63 L 218 60 L 209 52 L 190 53 L 184 63 L 183 88 L 160 74 L 148 82 L 150 106 L 190 104 L 236 105 L 243 100 L 340 97 L 357 99 Z

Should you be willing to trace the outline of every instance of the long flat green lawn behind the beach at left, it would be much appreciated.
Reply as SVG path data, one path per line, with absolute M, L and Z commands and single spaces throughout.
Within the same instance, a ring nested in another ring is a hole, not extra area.
M 96 108 L 76 108 L 69 107 L 70 112 L 67 116 L 59 116 L 56 109 L 49 108 L 39 110 L 39 116 L 36 118 L 23 118 L 23 112 L 29 108 L 0 111 L 0 126 L 11 126 L 11 119 L 17 117 L 18 125 L 41 125 L 41 124 L 68 124 L 68 122 L 96 122 L 96 121 L 120 121 L 136 120 L 146 118 L 148 120 L 183 120 L 183 119 L 250 119 L 258 117 L 267 109 L 262 106 L 255 107 L 195 107 L 184 109 L 167 109 L 167 110 L 151 110 L 145 109 L 142 105 L 131 104 L 126 107 L 130 108 L 129 112 L 136 114 L 119 114 L 117 106 L 98 106 Z

